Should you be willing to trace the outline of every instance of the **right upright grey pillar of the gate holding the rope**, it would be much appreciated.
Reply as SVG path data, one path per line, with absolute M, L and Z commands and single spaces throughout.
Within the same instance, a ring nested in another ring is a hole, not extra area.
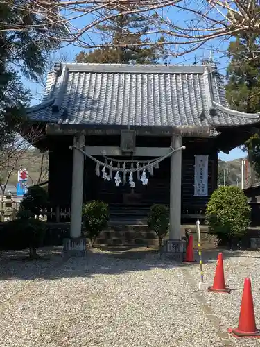
M 171 139 L 173 149 L 182 146 L 182 137 L 173 136 Z M 171 155 L 171 178 L 170 178 L 170 230 L 169 239 L 181 239 L 181 203 L 182 203 L 182 151 Z

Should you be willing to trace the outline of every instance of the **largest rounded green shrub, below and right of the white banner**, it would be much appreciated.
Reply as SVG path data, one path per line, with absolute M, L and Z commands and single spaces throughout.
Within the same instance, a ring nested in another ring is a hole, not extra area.
M 234 239 L 239 240 L 250 225 L 250 206 L 239 187 L 216 189 L 206 209 L 206 223 L 216 235 L 218 245 L 228 244 L 232 248 Z

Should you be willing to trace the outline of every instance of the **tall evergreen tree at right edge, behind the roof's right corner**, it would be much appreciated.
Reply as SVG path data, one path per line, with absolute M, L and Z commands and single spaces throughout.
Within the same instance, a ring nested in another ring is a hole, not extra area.
M 227 67 L 227 102 L 235 110 L 260 112 L 260 40 L 258 35 L 243 34 L 229 44 L 231 57 Z M 252 135 L 245 142 L 257 176 L 260 176 L 260 137 Z

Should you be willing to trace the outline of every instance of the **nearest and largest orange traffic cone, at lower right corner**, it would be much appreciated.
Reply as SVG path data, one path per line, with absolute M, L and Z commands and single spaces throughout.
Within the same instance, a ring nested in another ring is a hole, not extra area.
M 234 337 L 258 337 L 260 338 L 260 330 L 257 330 L 254 319 L 254 303 L 252 298 L 251 280 L 245 278 L 241 309 L 239 315 L 239 328 L 227 330 Z

